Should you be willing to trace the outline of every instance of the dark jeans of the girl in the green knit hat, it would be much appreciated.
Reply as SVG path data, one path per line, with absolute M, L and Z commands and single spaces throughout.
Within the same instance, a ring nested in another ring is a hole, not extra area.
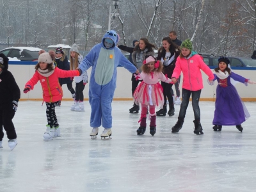
M 179 120 L 184 120 L 186 116 L 186 111 L 188 108 L 189 98 L 192 95 L 192 107 L 194 111 L 195 120 L 200 121 L 200 108 L 199 108 L 199 99 L 201 95 L 201 90 L 198 91 L 189 91 L 182 88 L 182 102 L 180 105 Z

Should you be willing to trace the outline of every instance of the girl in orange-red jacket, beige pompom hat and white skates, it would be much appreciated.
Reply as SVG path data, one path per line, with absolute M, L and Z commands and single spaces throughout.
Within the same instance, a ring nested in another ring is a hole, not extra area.
M 46 116 L 47 122 L 46 132 L 44 133 L 44 140 L 52 140 L 60 136 L 60 126 L 55 114 L 55 106 L 61 97 L 63 92 L 58 81 L 58 78 L 74 77 L 79 76 L 78 70 L 61 70 L 60 68 L 54 67 L 55 53 L 53 51 L 43 52 L 39 55 L 38 63 L 35 67 L 35 74 L 26 83 L 23 90 L 24 93 L 28 93 L 33 90 L 35 84 L 40 81 L 43 89 L 43 98 L 46 102 Z

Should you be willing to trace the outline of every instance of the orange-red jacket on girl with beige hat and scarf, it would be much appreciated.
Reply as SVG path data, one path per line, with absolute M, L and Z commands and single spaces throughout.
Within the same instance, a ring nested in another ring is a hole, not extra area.
M 43 98 L 45 102 L 57 102 L 61 100 L 63 92 L 58 78 L 79 76 L 78 70 L 61 70 L 58 67 L 54 68 L 53 74 L 49 77 L 44 77 L 36 70 L 33 77 L 26 83 L 33 90 L 35 84 L 40 81 L 43 89 Z

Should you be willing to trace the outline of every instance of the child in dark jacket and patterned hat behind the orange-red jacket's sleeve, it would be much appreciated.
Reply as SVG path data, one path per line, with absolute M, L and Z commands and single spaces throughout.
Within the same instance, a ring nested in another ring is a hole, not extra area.
M 70 65 L 68 63 L 68 58 L 65 52 L 63 51 L 62 47 L 57 47 L 55 49 L 56 53 L 56 67 L 62 69 L 62 70 L 70 70 Z M 68 77 L 68 78 L 59 78 L 60 86 L 63 84 L 67 84 L 68 91 L 72 94 L 72 98 L 75 100 L 76 99 L 76 92 L 72 86 L 73 79 Z M 61 100 L 58 102 L 58 105 L 61 104 Z

